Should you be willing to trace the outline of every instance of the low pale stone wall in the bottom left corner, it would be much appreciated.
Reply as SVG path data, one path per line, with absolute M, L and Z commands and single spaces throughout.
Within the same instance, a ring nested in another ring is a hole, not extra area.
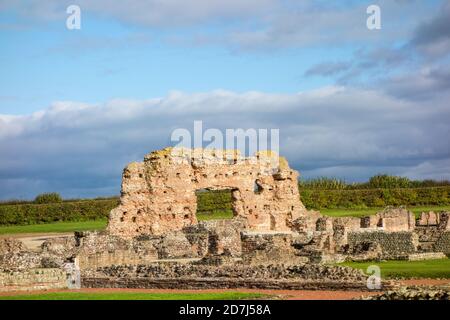
M 0 271 L 1 291 L 66 289 L 66 273 L 61 269 Z

